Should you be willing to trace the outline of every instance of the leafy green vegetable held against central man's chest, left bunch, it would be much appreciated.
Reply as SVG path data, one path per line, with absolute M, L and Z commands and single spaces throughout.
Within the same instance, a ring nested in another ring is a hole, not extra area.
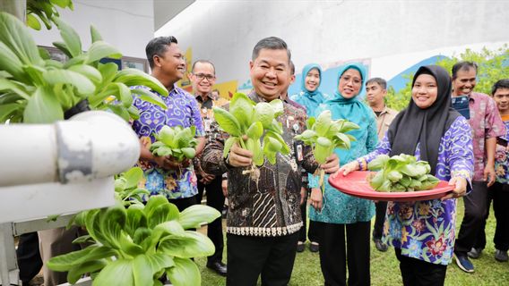
M 237 93 L 230 101 L 229 111 L 214 107 L 213 112 L 221 130 L 229 133 L 223 151 L 225 157 L 236 143 L 253 152 L 253 164 L 256 166 L 263 165 L 265 157 L 269 163 L 276 164 L 278 153 L 289 154 L 289 147 L 281 137 L 282 124 L 276 120 L 283 114 L 280 99 L 255 104 L 245 94 Z

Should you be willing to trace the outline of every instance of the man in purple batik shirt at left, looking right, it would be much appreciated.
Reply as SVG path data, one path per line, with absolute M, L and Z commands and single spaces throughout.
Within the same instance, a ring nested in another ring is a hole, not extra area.
M 205 143 L 202 116 L 194 97 L 176 85 L 185 72 L 185 61 L 177 46 L 177 39 L 171 36 L 154 38 L 147 45 L 146 53 L 151 65 L 151 75 L 168 88 L 169 95 L 162 97 L 149 88 L 135 87 L 144 88 L 160 97 L 168 106 L 164 110 L 134 96 L 133 105 L 140 112 L 140 118 L 133 122 L 133 129 L 142 144 L 139 165 L 144 173 L 143 185 L 151 195 L 164 195 L 182 211 L 196 203 L 198 189 L 192 162 L 185 160 L 177 163 L 171 156 L 154 156 L 149 149 L 155 141 L 154 134 L 163 126 L 180 125 L 184 128 L 196 127 L 195 136 L 199 142 L 196 153 L 202 152 Z

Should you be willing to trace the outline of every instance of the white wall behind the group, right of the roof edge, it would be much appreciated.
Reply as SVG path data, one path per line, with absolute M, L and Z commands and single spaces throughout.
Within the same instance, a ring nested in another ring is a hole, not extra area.
M 389 77 L 423 55 L 509 42 L 506 11 L 509 1 L 496 0 L 197 1 L 156 36 L 177 37 L 194 60 L 215 63 L 219 81 L 239 85 L 255 43 L 269 36 L 289 44 L 298 72 L 306 63 L 368 58 L 377 76 Z

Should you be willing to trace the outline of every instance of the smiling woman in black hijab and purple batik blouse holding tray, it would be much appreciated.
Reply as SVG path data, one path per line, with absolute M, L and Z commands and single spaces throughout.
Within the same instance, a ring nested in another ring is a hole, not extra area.
M 431 173 L 454 186 L 441 199 L 389 202 L 384 240 L 395 248 L 404 285 L 444 285 L 453 257 L 456 199 L 470 189 L 473 151 L 469 122 L 451 107 L 451 79 L 436 65 L 414 76 L 409 106 L 389 127 L 376 150 L 338 171 L 366 170 L 376 156 L 415 155 Z

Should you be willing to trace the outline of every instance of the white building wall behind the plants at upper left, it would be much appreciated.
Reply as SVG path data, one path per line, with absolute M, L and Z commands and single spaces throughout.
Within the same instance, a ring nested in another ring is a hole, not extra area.
M 91 45 L 90 26 L 94 24 L 109 44 L 123 55 L 146 58 L 145 46 L 153 38 L 154 13 L 152 0 L 73 0 L 74 11 L 59 10 L 64 21 L 76 29 L 82 47 Z M 58 30 L 32 31 L 38 45 L 53 46 L 61 41 Z

